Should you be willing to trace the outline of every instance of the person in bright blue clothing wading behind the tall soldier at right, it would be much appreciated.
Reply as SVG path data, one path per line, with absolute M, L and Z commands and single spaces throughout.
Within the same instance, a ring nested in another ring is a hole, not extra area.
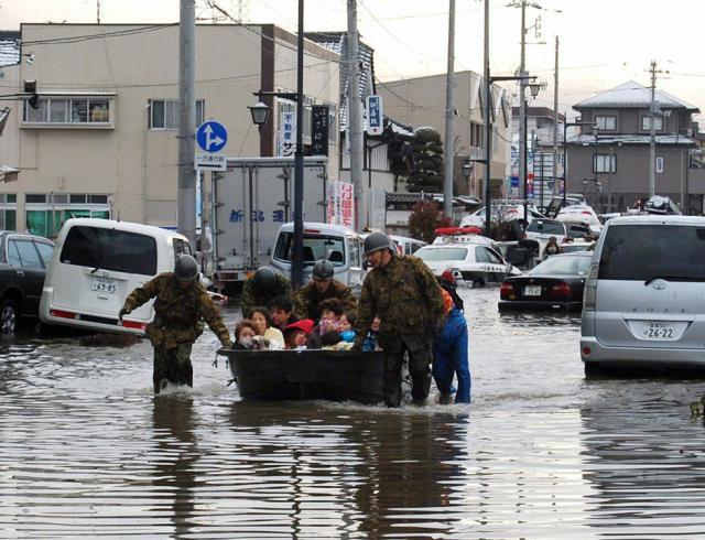
M 441 335 L 433 342 L 433 379 L 441 392 L 441 403 L 453 398 L 453 376 L 457 378 L 456 403 L 470 402 L 470 367 L 468 363 L 468 328 L 463 312 L 463 300 L 455 291 L 451 272 L 438 278 L 444 291 L 446 321 Z

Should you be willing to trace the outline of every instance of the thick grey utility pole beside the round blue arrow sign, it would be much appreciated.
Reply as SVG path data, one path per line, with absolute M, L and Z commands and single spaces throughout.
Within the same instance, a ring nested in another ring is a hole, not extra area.
M 181 0 L 178 23 L 178 231 L 196 245 L 196 15 L 195 0 Z

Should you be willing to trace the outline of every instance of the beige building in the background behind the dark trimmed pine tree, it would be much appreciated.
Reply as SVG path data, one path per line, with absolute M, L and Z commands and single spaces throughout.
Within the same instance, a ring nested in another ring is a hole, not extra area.
M 431 75 L 379 84 L 384 110 L 408 126 L 430 126 L 445 137 L 446 75 Z M 454 193 L 485 197 L 485 165 L 473 162 L 469 176 L 463 175 L 466 160 L 484 159 L 484 93 L 482 77 L 474 72 L 455 74 Z M 494 197 L 503 195 L 510 158 L 511 96 L 492 85 L 492 148 L 491 191 Z M 445 142 L 444 142 L 445 143 Z

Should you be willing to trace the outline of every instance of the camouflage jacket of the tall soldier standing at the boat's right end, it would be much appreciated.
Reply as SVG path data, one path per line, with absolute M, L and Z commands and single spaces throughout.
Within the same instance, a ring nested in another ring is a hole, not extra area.
M 365 336 L 375 315 L 380 335 L 427 335 L 444 324 L 443 296 L 435 277 L 421 259 L 392 256 L 384 268 L 370 270 L 362 283 L 355 330 Z

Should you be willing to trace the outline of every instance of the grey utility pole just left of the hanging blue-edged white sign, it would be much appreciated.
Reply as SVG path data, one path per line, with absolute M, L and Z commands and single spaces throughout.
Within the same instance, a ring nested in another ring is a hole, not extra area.
M 355 193 L 355 228 L 362 229 L 362 209 L 366 208 L 362 169 L 362 102 L 360 100 L 360 65 L 358 61 L 357 0 L 348 0 L 348 134 L 350 137 L 350 182 Z M 365 212 L 365 215 L 368 215 Z M 367 226 L 368 224 L 365 223 Z

